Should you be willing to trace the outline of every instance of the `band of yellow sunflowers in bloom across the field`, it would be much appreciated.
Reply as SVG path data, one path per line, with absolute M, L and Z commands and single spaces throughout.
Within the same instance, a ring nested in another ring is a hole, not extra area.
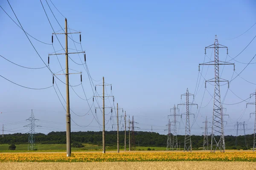
M 0 162 L 105 162 L 105 161 L 256 161 L 253 152 L 226 153 L 1 153 Z

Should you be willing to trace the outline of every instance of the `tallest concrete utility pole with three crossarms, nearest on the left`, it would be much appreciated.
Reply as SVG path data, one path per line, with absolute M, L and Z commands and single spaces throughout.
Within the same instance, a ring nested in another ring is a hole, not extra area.
M 67 103 L 67 113 L 66 113 L 66 137 L 67 137 L 67 157 L 71 156 L 71 136 L 70 136 L 70 133 L 71 133 L 71 126 L 70 126 L 70 97 L 69 97 L 69 74 L 81 74 L 81 73 L 69 73 L 69 68 L 68 68 L 68 55 L 69 54 L 78 54 L 78 53 L 83 53 L 84 54 L 84 60 L 85 60 L 85 52 L 76 52 L 76 53 L 69 53 L 68 52 L 68 43 L 67 43 L 67 34 L 80 34 L 81 35 L 81 32 L 70 32 L 68 33 L 67 32 L 67 18 L 65 18 L 65 33 L 52 33 L 52 43 L 53 43 L 53 34 L 65 34 L 65 41 L 66 41 L 66 46 L 65 46 L 65 53 L 62 53 L 62 54 L 65 54 L 66 56 L 66 74 L 54 74 L 53 75 L 53 83 L 54 83 L 54 76 L 56 75 L 65 75 L 66 76 L 66 103 Z M 81 42 L 81 36 L 80 36 L 80 42 Z M 49 54 L 48 55 L 48 64 L 49 64 L 49 56 L 51 55 L 62 55 L 62 54 Z

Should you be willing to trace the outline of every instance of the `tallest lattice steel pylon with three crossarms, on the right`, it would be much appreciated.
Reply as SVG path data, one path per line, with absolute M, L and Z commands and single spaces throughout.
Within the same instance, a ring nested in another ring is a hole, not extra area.
M 219 77 L 219 66 L 220 65 L 234 65 L 230 62 L 223 62 L 219 61 L 219 48 L 227 48 L 224 45 L 218 43 L 217 36 L 215 35 L 214 44 L 209 45 L 205 48 L 205 54 L 207 48 L 214 48 L 214 61 L 206 62 L 199 64 L 199 71 L 200 65 L 214 65 L 215 70 L 215 78 L 209 79 L 206 82 L 214 82 L 214 101 L 213 101 L 213 114 L 212 114 L 212 140 L 211 140 L 211 152 L 215 152 L 218 148 L 221 152 L 225 152 L 225 139 L 224 139 L 224 126 L 223 126 L 223 116 L 222 116 L 222 109 L 221 109 L 221 93 L 220 93 L 220 82 L 227 82 L 229 86 L 229 82 L 225 79 L 221 79 Z M 227 49 L 228 54 L 228 49 Z M 235 70 L 235 65 L 234 65 Z M 205 85 L 206 85 L 205 82 Z M 217 139 L 218 133 L 220 138 Z

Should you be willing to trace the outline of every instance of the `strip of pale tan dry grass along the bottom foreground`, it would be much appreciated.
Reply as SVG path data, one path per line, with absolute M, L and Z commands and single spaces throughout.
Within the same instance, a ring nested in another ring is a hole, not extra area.
M 256 170 L 256 162 L 3 162 L 1 170 Z

